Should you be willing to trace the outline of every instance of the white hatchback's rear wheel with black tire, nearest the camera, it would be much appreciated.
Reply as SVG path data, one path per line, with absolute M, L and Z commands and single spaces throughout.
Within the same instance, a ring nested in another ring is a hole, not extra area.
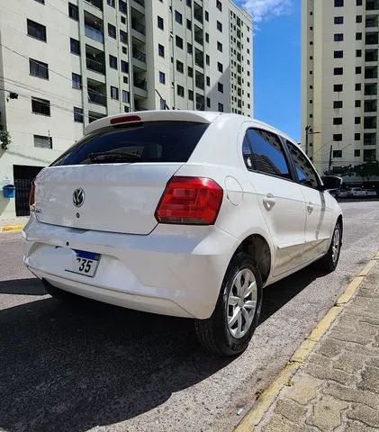
M 248 288 L 252 290 L 248 296 L 238 291 L 238 280 L 241 289 L 246 286 L 245 293 Z M 212 316 L 194 322 L 200 344 L 218 356 L 239 355 L 248 347 L 257 328 L 261 307 L 262 277 L 257 265 L 247 253 L 238 252 L 230 261 Z M 232 319 L 235 321 L 230 325 Z

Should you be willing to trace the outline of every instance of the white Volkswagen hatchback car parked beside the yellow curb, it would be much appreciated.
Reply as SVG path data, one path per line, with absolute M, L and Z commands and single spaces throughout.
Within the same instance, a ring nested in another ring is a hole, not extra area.
M 339 185 L 248 117 L 107 117 L 35 179 L 23 260 L 53 297 L 193 318 L 204 347 L 236 355 L 265 285 L 337 266 Z

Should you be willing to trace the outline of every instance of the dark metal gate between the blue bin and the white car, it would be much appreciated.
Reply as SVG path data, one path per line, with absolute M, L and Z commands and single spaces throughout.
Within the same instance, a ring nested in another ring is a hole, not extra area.
M 16 188 L 16 216 L 29 216 L 29 192 L 32 180 L 43 166 L 14 165 L 14 186 Z

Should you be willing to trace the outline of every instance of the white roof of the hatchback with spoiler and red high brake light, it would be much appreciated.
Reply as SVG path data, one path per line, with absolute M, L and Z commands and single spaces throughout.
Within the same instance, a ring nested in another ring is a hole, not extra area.
M 257 127 L 265 130 L 272 131 L 273 133 L 281 135 L 284 139 L 288 139 L 295 143 L 293 139 L 286 134 L 269 126 L 264 121 L 259 121 L 252 117 L 240 114 L 233 114 L 227 112 L 210 112 L 210 111 L 186 111 L 186 110 L 151 110 L 151 111 L 138 111 L 127 112 L 122 114 L 111 115 L 102 119 L 93 121 L 85 130 L 85 134 L 89 135 L 96 130 L 104 129 L 111 125 L 111 121 L 122 122 L 138 122 L 138 121 L 198 121 L 211 124 L 216 119 L 228 120 L 236 126 L 244 121 L 250 121 L 252 127 Z M 124 120 L 124 121 L 123 121 Z

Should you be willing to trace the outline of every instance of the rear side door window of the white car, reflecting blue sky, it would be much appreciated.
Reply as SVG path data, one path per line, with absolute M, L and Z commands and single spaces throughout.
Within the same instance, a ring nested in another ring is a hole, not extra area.
M 248 139 L 254 153 L 257 171 L 269 175 L 291 178 L 279 139 L 266 130 L 248 130 Z

